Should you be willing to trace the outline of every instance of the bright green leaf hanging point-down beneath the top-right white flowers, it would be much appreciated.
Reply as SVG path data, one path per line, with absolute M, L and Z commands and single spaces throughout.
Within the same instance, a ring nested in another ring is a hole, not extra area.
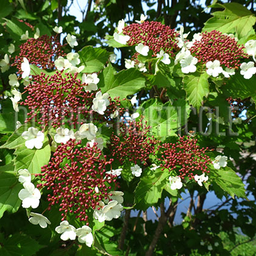
M 209 93 L 207 79 L 207 73 L 194 73 L 194 75 L 185 76 L 183 79 L 188 102 L 190 102 L 193 107 L 197 108 L 197 110 L 199 110 L 204 102 L 204 97 L 207 97 Z

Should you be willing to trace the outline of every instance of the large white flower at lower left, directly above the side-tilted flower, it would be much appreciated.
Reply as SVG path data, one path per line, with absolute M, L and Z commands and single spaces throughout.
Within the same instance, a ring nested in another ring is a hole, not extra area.
M 18 197 L 22 200 L 23 208 L 37 208 L 40 203 L 41 194 L 38 188 L 35 188 L 31 182 L 24 182 L 23 189 L 19 192 Z

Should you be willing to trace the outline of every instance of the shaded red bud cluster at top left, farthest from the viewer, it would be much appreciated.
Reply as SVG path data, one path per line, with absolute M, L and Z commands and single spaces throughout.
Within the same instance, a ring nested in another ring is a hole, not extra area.
M 48 35 L 42 35 L 37 39 L 29 38 L 19 47 L 20 53 L 16 55 L 13 66 L 18 68 L 20 74 L 22 73 L 21 63 L 23 63 L 24 57 L 27 58 L 30 64 L 34 64 L 39 68 L 53 69 L 54 58 L 65 56 L 62 51 L 62 44 Z

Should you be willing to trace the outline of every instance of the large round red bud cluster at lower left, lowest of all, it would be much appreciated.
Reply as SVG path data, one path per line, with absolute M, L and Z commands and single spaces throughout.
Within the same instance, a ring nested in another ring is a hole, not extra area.
M 96 145 L 82 148 L 80 143 L 69 140 L 57 148 L 41 174 L 36 174 L 41 177 L 37 188 L 49 191 L 48 210 L 59 205 L 62 220 L 72 213 L 88 226 L 88 210 L 95 210 L 119 185 L 115 175 L 105 173 L 113 159 L 107 160 Z

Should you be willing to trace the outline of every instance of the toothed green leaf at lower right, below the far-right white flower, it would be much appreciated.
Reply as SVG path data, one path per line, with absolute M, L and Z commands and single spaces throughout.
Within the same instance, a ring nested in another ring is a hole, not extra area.
M 211 168 L 208 174 L 212 182 L 215 182 L 222 190 L 226 191 L 232 198 L 234 196 L 246 198 L 244 183 L 231 168 L 226 166 L 221 169 Z

